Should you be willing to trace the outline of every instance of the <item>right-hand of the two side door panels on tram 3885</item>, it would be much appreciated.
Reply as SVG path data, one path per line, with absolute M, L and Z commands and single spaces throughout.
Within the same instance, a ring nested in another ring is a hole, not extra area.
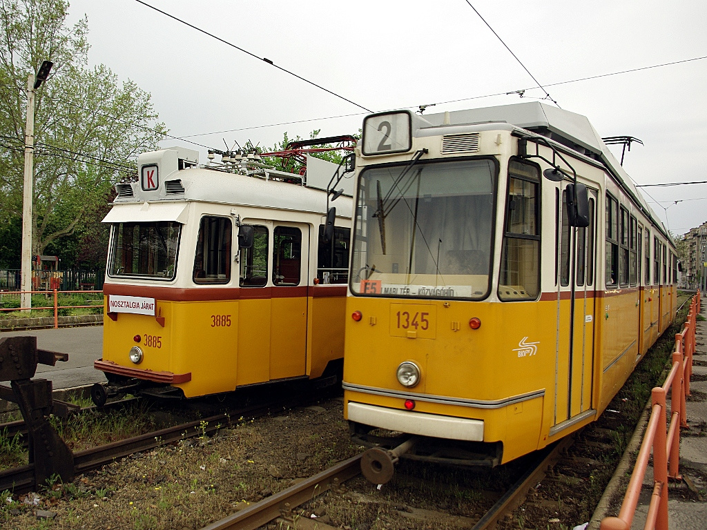
M 274 223 L 270 309 L 270 379 L 307 370 L 309 226 Z

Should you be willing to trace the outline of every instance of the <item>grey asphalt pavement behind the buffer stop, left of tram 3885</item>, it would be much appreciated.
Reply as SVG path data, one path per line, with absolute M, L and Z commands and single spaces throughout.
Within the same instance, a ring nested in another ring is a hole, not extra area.
M 103 326 L 0 331 L 0 338 L 23 335 L 36 336 L 37 348 L 41 350 L 69 354 L 66 363 L 37 365 L 35 379 L 49 379 L 54 390 L 105 382 L 103 372 L 93 368 L 93 361 L 103 355 Z

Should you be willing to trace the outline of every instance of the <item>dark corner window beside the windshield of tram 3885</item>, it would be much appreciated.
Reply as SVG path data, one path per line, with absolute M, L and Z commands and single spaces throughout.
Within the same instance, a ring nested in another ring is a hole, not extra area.
M 227 217 L 204 216 L 199 225 L 194 257 L 194 283 L 230 281 L 230 245 L 233 223 Z

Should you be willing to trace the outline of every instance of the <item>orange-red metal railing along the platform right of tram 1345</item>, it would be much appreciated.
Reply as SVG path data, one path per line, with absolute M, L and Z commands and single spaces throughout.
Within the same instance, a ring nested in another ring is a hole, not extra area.
M 626 488 L 624 502 L 618 517 L 604 517 L 600 530 L 629 530 L 636 514 L 638 496 L 641 494 L 643 476 L 648 467 L 648 458 L 653 450 L 653 495 L 650 497 L 645 530 L 667 530 L 667 481 L 680 480 L 678 465 L 680 460 L 680 427 L 686 427 L 685 401 L 690 395 L 692 375 L 692 355 L 695 351 L 697 314 L 700 311 L 701 293 L 697 291 L 690 303 L 687 320 L 680 333 L 675 334 L 675 349 L 672 353 L 672 367 L 661 387 L 651 391 L 651 411 L 648 426 L 643 434 L 641 449 L 638 450 L 636 465 Z M 667 432 L 666 396 L 671 390 L 670 425 Z

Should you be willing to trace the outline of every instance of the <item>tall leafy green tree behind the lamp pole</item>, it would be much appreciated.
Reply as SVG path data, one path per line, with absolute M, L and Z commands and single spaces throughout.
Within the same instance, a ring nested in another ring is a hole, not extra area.
M 166 132 L 149 93 L 88 66 L 88 20 L 67 27 L 68 9 L 66 0 L 0 0 L 0 223 L 22 213 L 28 74 L 54 62 L 35 95 L 33 254 L 99 222 L 90 214 Z

